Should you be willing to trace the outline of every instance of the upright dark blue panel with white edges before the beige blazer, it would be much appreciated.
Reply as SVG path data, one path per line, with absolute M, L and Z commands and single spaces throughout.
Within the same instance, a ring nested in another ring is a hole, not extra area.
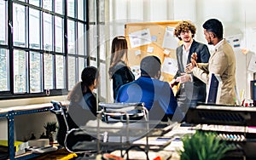
M 207 90 L 207 104 L 219 104 L 221 94 L 222 80 L 218 74 L 212 73 L 209 78 L 209 86 Z

